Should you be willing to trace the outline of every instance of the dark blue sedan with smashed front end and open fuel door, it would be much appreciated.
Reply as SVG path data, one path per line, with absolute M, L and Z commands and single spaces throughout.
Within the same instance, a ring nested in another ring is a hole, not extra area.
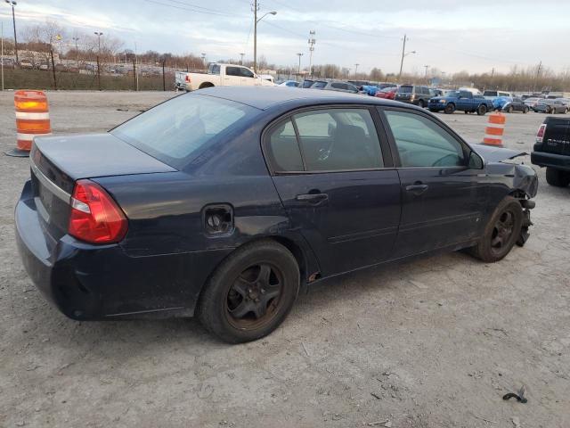
M 36 138 L 21 259 L 77 320 L 196 315 L 227 342 L 306 284 L 434 251 L 522 245 L 537 179 L 431 113 L 278 87 L 180 95 L 99 135 Z

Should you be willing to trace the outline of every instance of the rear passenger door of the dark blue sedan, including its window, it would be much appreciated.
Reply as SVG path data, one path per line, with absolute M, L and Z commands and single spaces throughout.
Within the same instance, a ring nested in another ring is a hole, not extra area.
M 372 108 L 328 106 L 290 113 L 265 132 L 281 202 L 323 276 L 390 258 L 400 181 L 378 120 Z

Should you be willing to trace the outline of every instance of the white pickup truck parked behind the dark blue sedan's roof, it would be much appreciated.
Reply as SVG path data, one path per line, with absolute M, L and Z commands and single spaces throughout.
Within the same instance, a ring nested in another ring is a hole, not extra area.
M 219 62 L 210 63 L 206 73 L 185 73 L 183 71 L 175 73 L 177 90 L 194 91 L 210 86 L 274 86 L 274 84 L 257 76 L 247 67 Z

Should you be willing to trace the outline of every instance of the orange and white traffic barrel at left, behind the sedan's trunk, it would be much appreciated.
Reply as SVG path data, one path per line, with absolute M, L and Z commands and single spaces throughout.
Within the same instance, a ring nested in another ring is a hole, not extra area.
M 16 148 L 10 156 L 29 156 L 35 136 L 52 133 L 47 96 L 42 91 L 20 90 L 14 93 L 16 108 Z

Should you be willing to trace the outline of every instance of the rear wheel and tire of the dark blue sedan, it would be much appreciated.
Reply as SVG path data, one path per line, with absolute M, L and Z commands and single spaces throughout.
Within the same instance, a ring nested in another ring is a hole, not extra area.
M 299 282 L 297 260 L 283 245 L 246 244 L 216 268 L 199 296 L 197 316 L 224 342 L 255 341 L 288 316 Z

